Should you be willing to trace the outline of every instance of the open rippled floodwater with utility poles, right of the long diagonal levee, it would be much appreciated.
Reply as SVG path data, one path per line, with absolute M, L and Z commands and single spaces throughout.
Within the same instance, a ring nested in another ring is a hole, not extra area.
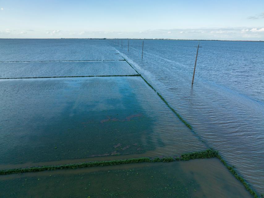
M 207 143 L 264 192 L 264 42 L 127 40 L 114 45 Z

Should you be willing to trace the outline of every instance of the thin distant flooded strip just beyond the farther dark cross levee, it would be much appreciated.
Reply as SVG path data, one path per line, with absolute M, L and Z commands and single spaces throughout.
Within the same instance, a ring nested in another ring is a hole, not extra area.
M 112 52 L 116 53 L 116 52 Z M 0 62 L 36 61 L 117 61 L 124 60 L 119 54 L 6 54 Z

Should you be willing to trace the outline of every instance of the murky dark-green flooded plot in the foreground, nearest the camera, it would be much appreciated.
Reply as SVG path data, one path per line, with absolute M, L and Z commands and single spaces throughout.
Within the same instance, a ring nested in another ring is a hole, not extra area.
M 1 175 L 0 196 L 251 197 L 216 158 Z

